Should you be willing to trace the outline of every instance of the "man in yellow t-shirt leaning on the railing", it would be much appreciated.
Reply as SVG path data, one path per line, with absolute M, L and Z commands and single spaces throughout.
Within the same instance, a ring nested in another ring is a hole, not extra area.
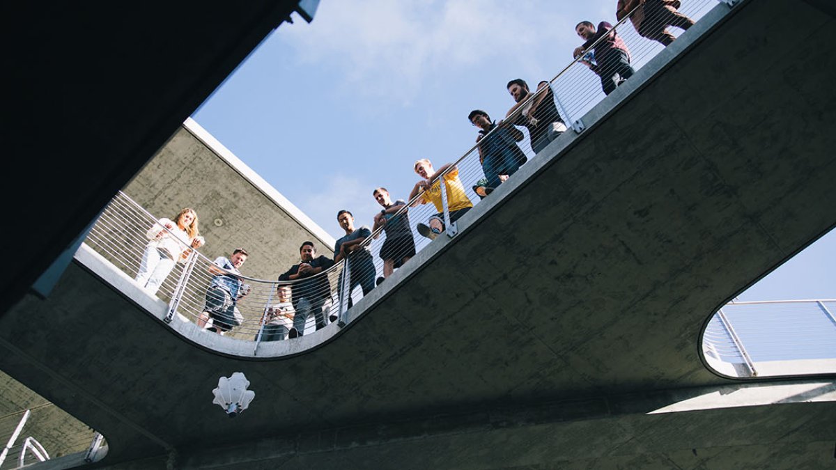
M 441 181 L 439 176 L 444 175 L 444 185 L 447 193 L 447 207 L 450 211 L 450 222 L 456 222 L 459 217 L 473 207 L 473 203 L 465 193 L 464 186 L 459 180 L 459 170 L 452 163 L 441 166 L 438 170 L 433 169 L 432 162 L 426 158 L 415 161 L 415 173 L 421 176 L 421 181 L 415 183 L 410 193 L 410 201 L 421 194 L 421 197 L 412 202 L 412 207 L 418 204 L 432 202 L 436 207 L 435 215 L 430 217 L 430 226 L 424 223 L 418 224 L 418 232 L 426 238 L 435 239 L 441 232 L 444 232 L 444 207 L 441 204 Z M 446 171 L 446 173 L 445 173 Z

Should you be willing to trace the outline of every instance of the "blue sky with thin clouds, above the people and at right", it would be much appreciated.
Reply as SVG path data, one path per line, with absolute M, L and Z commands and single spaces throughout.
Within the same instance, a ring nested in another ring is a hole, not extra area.
M 581 43 L 574 25 L 615 23 L 615 3 L 322 0 L 313 23 L 294 15 L 193 118 L 340 237 L 339 209 L 371 224 L 375 187 L 405 198 L 415 160 L 463 155 L 477 135 L 468 112 L 504 115 L 507 81 L 553 78 Z M 740 299 L 836 297 L 834 261 L 832 234 Z

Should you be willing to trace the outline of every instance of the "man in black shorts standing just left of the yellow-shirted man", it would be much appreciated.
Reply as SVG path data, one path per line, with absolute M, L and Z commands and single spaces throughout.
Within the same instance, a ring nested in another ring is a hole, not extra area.
M 380 259 L 383 260 L 383 276 L 377 278 L 377 284 L 380 284 L 395 271 L 395 268 L 400 268 L 415 256 L 415 239 L 412 238 L 406 202 L 403 199 L 392 202 L 389 191 L 385 187 L 375 189 L 372 194 L 375 196 L 375 201 L 383 207 L 375 214 L 375 227 L 372 228 L 372 232 L 376 232 L 380 227 L 383 227 L 386 232 L 386 239 L 383 247 L 380 248 Z M 395 212 L 401 209 L 403 211 L 395 215 Z M 378 235 L 380 233 L 375 233 L 375 238 Z

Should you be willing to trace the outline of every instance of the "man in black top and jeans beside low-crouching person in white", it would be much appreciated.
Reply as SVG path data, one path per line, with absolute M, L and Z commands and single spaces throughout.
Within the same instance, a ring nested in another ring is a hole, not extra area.
M 331 296 L 331 284 L 328 282 L 328 275 L 322 273 L 324 270 L 334 266 L 334 260 L 316 255 L 316 248 L 313 242 L 302 243 L 299 247 L 299 258 L 302 261 L 294 264 L 287 272 L 278 277 L 280 281 L 299 280 L 291 284 L 293 309 L 296 314 L 293 317 L 293 328 L 288 332 L 288 338 L 296 338 L 305 333 L 305 321 L 309 314 L 314 314 L 316 329 L 325 328 L 325 314 L 323 307 L 325 300 Z

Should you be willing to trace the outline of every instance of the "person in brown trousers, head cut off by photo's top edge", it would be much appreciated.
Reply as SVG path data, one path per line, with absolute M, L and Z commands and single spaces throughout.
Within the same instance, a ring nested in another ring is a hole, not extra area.
M 669 26 L 682 29 L 694 26 L 694 20 L 677 11 L 680 5 L 679 0 L 619 0 L 615 7 L 615 18 L 621 21 L 633 12 L 630 15 L 633 28 L 641 36 L 659 41 L 666 46 L 675 39 L 668 31 Z

